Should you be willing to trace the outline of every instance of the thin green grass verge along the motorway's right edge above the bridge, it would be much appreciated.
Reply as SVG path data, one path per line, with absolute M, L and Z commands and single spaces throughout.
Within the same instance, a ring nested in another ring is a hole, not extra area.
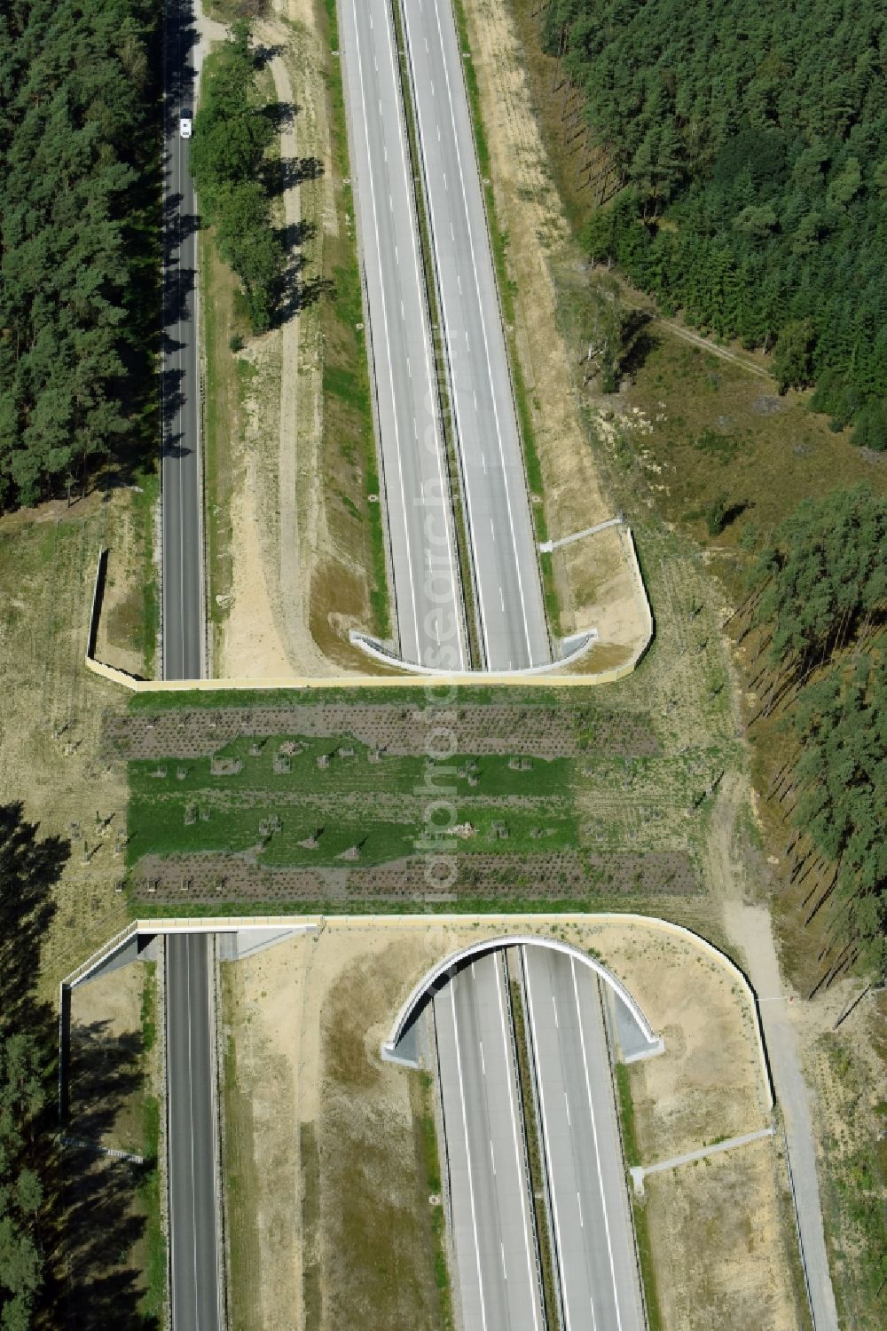
M 536 431 L 533 430 L 533 419 L 529 409 L 529 394 L 527 391 L 527 385 L 524 382 L 524 375 L 520 366 L 520 357 L 517 354 L 515 334 L 513 331 L 509 331 L 509 329 L 513 329 L 515 326 L 515 293 L 517 290 L 517 286 L 508 276 L 508 232 L 501 228 L 496 213 L 496 198 L 493 194 L 492 177 L 491 177 L 489 145 L 487 142 L 487 133 L 484 130 L 484 120 L 480 106 L 480 89 L 477 87 L 477 75 L 475 72 L 475 65 L 471 59 L 471 43 L 468 40 L 468 21 L 465 19 L 464 3 L 463 0 L 452 0 L 452 4 L 456 16 L 459 45 L 463 53 L 467 53 L 465 59 L 463 59 L 461 67 L 465 77 L 468 108 L 471 112 L 471 122 L 475 134 L 475 150 L 477 153 L 477 166 L 480 168 L 481 194 L 484 198 L 484 206 L 487 209 L 487 230 L 489 234 L 489 245 L 493 256 L 493 268 L 496 270 L 496 284 L 499 286 L 499 299 L 501 302 L 501 317 L 505 325 L 504 327 L 505 345 L 508 347 L 508 361 L 511 365 L 512 386 L 515 390 L 515 406 L 517 409 L 517 422 L 520 426 L 520 434 L 524 445 L 524 466 L 527 469 L 527 484 L 529 486 L 529 494 L 531 494 L 533 527 L 536 531 L 536 540 L 541 543 L 548 540 L 548 522 L 545 519 L 545 503 L 544 503 L 545 486 L 543 480 L 543 466 L 539 457 L 539 447 L 536 445 Z M 539 496 L 541 502 L 539 503 L 532 502 L 535 496 Z M 557 596 L 557 590 L 555 587 L 551 556 L 543 556 L 540 559 L 540 571 L 543 579 L 543 596 L 545 600 L 545 611 L 551 622 L 551 630 L 552 634 L 555 634 L 555 636 L 561 636 L 560 600 Z

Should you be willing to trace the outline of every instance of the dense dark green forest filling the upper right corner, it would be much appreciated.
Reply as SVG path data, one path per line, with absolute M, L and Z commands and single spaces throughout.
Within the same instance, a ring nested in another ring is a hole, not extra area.
M 625 185 L 588 217 L 590 256 L 887 447 L 879 0 L 549 0 L 541 24 L 593 173 Z

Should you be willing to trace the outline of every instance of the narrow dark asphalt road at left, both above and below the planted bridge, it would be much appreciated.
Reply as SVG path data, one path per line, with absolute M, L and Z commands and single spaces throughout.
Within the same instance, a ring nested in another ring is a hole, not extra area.
M 193 114 L 191 0 L 166 0 L 161 363 L 162 673 L 203 673 L 197 204 L 180 116 Z M 219 1331 L 217 1142 L 207 934 L 166 940 L 166 1162 L 173 1331 Z

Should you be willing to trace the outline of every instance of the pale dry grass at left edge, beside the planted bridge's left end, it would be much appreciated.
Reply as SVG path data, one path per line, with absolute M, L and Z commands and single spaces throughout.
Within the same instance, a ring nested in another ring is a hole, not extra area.
M 66 510 L 48 503 L 0 519 L 0 800 L 21 800 L 41 835 L 72 840 L 43 948 L 41 993 L 128 917 L 124 872 L 126 776 L 100 757 L 101 715 L 120 693 L 84 669 L 98 550 L 118 548 L 132 491 L 96 492 Z M 128 567 L 112 558 L 126 600 Z

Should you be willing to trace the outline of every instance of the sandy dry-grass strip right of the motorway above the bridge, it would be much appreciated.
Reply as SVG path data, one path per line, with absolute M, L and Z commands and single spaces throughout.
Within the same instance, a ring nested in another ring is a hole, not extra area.
M 529 399 L 548 534 L 559 539 L 616 511 L 584 429 L 574 357 L 557 313 L 553 270 L 576 262 L 578 254 L 532 113 L 524 49 L 508 5 L 505 0 L 472 0 L 464 8 L 496 214 L 507 236 L 513 350 Z M 641 620 L 625 554 L 613 534 L 556 551 L 552 572 L 563 632 L 597 626 L 604 643 L 637 646 Z

